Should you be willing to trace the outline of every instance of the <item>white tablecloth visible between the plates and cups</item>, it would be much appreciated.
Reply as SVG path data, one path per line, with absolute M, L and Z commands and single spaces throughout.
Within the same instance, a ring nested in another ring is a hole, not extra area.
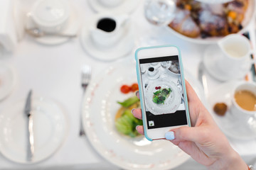
M 22 1 L 24 1 L 23 7 L 30 4 L 30 0 Z M 181 50 L 183 68 L 186 70 L 185 74 L 190 74 L 198 81 L 198 67 L 209 44 L 184 40 L 171 32 L 168 27 L 154 26 L 146 21 L 144 0 L 137 1 L 133 11 L 129 13 L 131 27 L 134 30 L 134 47 L 129 54 L 112 61 L 99 60 L 93 57 L 81 45 L 80 31 L 87 26 L 90 18 L 97 15 L 97 12 L 92 9 L 87 0 L 73 0 L 70 3 L 75 9 L 80 23 L 76 38 L 58 45 L 43 45 L 24 33 L 13 51 L 4 51 L 0 56 L 0 62 L 10 65 L 14 69 L 15 75 L 14 89 L 9 96 L 0 101 L 0 113 L 5 108 L 14 106 L 14 103 L 25 100 L 28 91 L 33 89 L 34 96 L 50 98 L 63 109 L 68 126 L 65 131 L 65 138 L 55 153 L 35 164 L 13 162 L 4 157 L 4 154 L 0 154 L 0 169 L 121 169 L 102 157 L 92 146 L 86 134 L 82 137 L 79 135 L 81 104 L 84 96 L 81 86 L 81 67 L 84 64 L 90 65 L 92 69 L 91 79 L 93 80 L 105 74 L 106 68 L 112 65 L 135 64 L 134 52 L 139 47 L 176 45 Z M 109 12 L 111 13 L 111 11 Z M 252 46 L 256 49 L 255 19 L 250 23 L 248 31 L 250 32 Z M 129 69 L 127 69 L 127 72 L 129 72 Z M 211 77 L 208 72 L 205 72 L 205 74 L 209 93 L 225 83 L 225 81 L 218 81 Z M 250 81 L 253 81 L 252 73 L 249 73 L 249 76 L 251 77 Z M 199 89 L 203 93 L 202 85 L 200 84 L 200 86 Z M 198 87 L 196 88 L 198 89 Z M 208 97 L 202 96 L 201 100 L 206 108 L 211 110 Z M 210 113 L 214 114 L 213 112 Z M 255 164 L 256 138 L 238 140 L 228 137 L 228 140 L 247 164 Z M 174 169 L 203 170 L 206 167 L 190 158 Z

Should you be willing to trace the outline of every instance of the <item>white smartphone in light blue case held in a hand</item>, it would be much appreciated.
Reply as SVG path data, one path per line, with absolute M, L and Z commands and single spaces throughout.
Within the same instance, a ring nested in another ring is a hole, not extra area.
M 191 126 L 178 47 L 142 47 L 135 58 L 146 139 L 165 139 L 172 128 Z

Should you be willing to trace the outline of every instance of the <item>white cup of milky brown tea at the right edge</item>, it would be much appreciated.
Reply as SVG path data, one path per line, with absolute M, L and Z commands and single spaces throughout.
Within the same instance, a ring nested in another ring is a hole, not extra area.
M 232 94 L 230 113 L 240 120 L 256 118 L 256 84 L 242 82 L 235 86 Z

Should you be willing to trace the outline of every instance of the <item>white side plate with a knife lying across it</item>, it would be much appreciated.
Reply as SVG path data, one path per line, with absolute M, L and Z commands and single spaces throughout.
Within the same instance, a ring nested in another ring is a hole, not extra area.
M 67 134 L 67 119 L 54 101 L 33 98 L 33 134 L 35 154 L 32 162 L 26 160 L 27 117 L 23 113 L 24 101 L 4 109 L 0 115 L 0 152 L 7 159 L 21 164 L 34 164 L 50 157 L 64 142 Z

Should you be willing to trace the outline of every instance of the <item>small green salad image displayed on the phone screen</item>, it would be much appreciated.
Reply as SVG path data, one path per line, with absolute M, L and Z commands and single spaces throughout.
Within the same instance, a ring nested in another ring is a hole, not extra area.
M 164 104 L 164 101 L 170 96 L 171 88 L 169 89 L 161 89 L 161 87 L 157 87 L 158 91 L 154 92 L 153 102 L 156 104 Z

